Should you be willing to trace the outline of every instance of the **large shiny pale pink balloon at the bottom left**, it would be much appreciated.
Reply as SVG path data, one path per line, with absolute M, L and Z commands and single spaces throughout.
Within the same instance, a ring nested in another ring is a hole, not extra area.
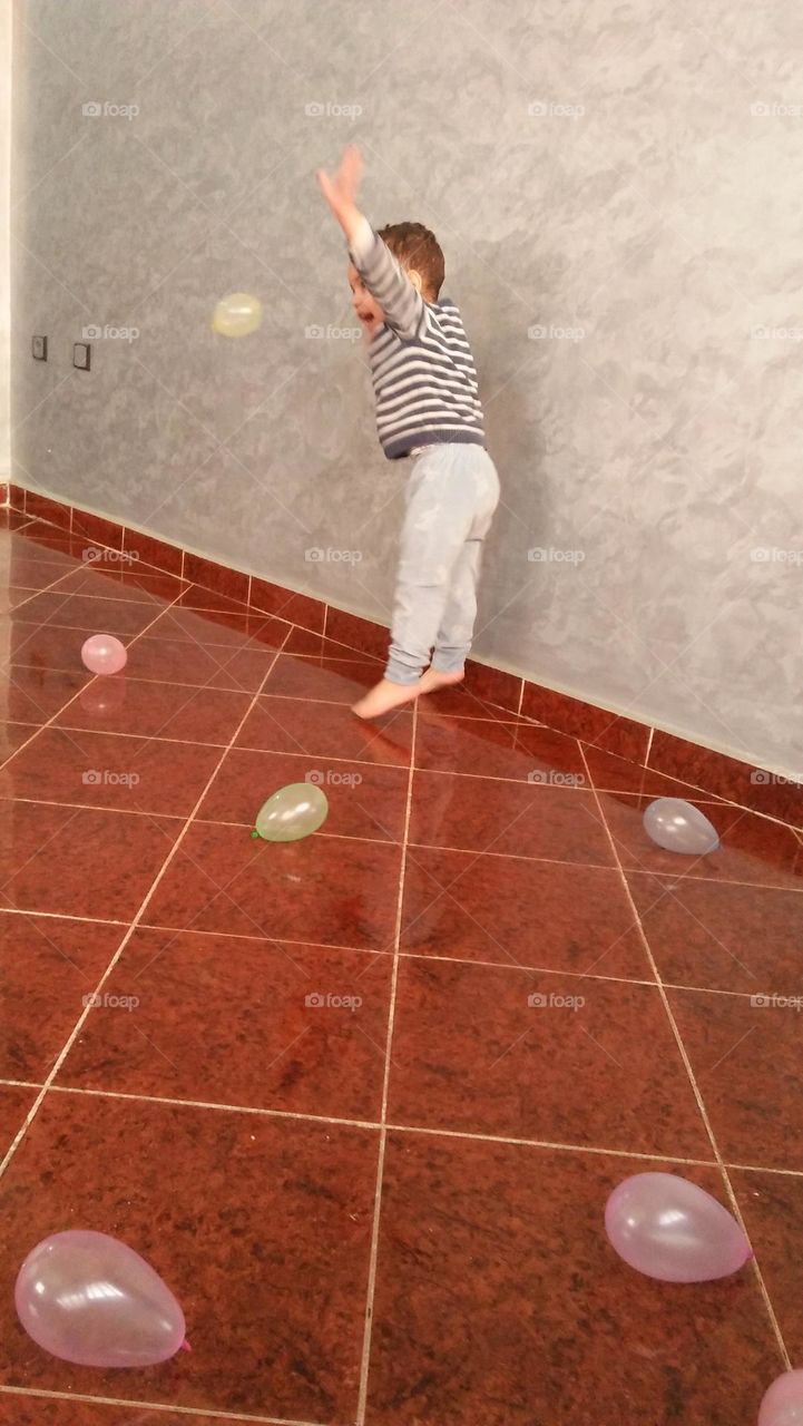
M 157 1272 L 107 1233 L 53 1233 L 14 1289 L 29 1336 L 80 1366 L 150 1366 L 184 1345 L 184 1313 Z

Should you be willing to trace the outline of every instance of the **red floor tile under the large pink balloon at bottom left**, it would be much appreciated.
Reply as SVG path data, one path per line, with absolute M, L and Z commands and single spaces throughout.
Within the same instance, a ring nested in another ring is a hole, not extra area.
M 50 1094 L 1 1181 L 3 1279 L 57 1228 L 111 1233 L 173 1289 L 193 1350 L 143 1370 L 58 1362 L 4 1293 L 4 1380 L 347 1426 L 375 1176 L 372 1129 Z

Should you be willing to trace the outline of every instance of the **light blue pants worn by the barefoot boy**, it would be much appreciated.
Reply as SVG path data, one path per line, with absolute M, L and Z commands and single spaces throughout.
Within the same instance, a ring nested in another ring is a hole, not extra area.
M 432 445 L 414 456 L 385 669 L 392 683 L 415 683 L 432 649 L 434 669 L 462 669 L 482 542 L 498 503 L 499 478 L 484 446 Z

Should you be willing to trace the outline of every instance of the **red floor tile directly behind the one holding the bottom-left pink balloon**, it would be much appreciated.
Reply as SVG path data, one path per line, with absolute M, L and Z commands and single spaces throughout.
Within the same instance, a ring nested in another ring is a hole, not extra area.
M 138 930 L 57 1082 L 378 1121 L 391 970 L 365 951 Z

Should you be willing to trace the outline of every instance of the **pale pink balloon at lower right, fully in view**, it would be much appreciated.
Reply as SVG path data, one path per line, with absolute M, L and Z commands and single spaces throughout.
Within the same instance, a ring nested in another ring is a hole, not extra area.
M 605 1231 L 630 1268 L 659 1282 L 710 1282 L 753 1256 L 736 1219 L 677 1174 L 635 1174 L 605 1205 Z

